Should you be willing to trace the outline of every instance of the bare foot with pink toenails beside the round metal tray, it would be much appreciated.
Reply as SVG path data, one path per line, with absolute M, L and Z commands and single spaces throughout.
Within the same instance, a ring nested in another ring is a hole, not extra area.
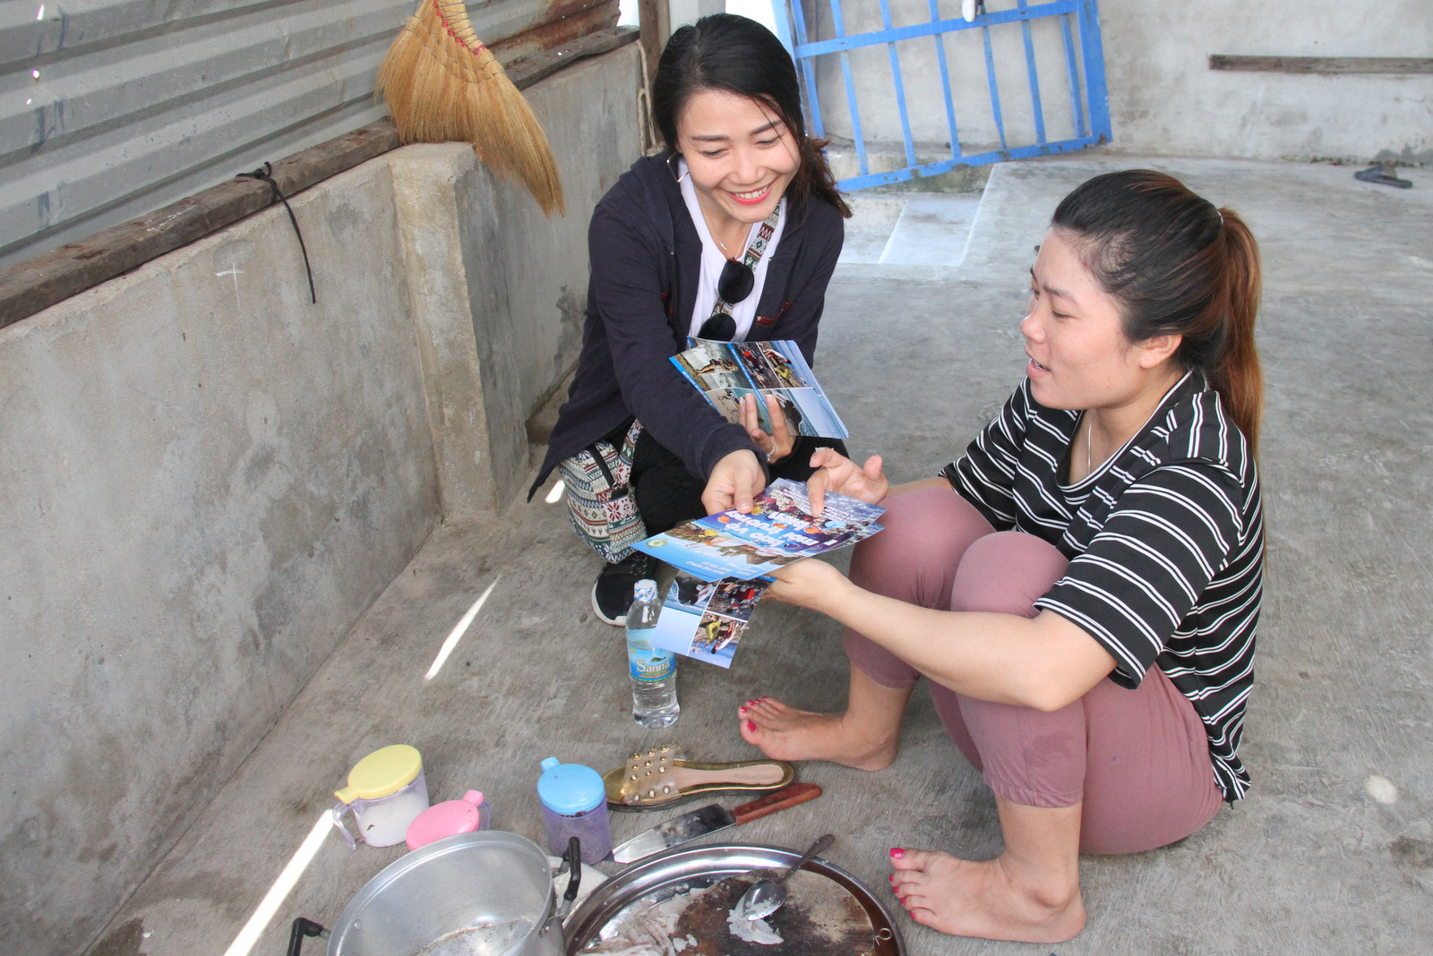
M 1078 874 L 1069 886 L 1065 874 L 1022 877 L 1005 856 L 972 862 L 927 850 L 891 850 L 891 866 L 901 906 L 941 933 L 1062 943 L 1085 927 Z

